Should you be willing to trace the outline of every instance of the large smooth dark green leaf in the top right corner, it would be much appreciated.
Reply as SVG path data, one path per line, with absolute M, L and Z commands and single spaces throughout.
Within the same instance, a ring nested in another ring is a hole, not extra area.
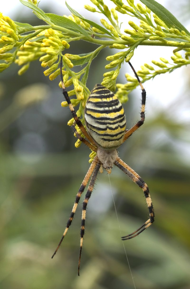
M 179 31 L 183 30 L 190 36 L 190 32 L 161 4 L 154 0 L 141 0 L 141 2 L 156 14 L 168 28 L 176 28 Z

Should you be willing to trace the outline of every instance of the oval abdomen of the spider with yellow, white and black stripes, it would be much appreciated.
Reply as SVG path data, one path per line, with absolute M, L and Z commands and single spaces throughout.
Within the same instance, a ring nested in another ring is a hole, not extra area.
M 115 149 L 122 144 L 126 129 L 123 106 L 109 89 L 96 84 L 86 102 L 86 128 L 99 147 Z

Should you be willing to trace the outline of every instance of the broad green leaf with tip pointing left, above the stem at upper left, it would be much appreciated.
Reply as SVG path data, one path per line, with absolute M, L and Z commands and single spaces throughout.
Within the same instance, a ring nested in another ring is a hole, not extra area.
M 90 37 L 85 29 L 83 29 L 82 27 L 80 27 L 78 24 L 76 24 L 67 17 L 59 16 L 53 13 L 45 13 L 44 15 L 46 15 L 57 26 L 71 29 L 73 31 L 78 31 L 84 36 L 88 38 Z

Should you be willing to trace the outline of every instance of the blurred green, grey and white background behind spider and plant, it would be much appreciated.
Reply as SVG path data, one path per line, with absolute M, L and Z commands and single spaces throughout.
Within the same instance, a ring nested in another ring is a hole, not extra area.
M 15 21 L 40 25 L 19 1 L 4 1 L 1 12 Z M 110 8 L 113 7 L 111 1 Z M 189 1 L 159 1 L 188 28 Z M 98 21 L 101 15 L 84 10 L 91 2 L 69 5 Z M 41 1 L 45 12 L 70 12 L 63 1 Z M 121 15 L 123 16 L 123 15 Z M 128 17 L 128 16 L 126 16 Z M 123 19 L 127 28 L 128 18 Z M 134 20 L 134 19 L 133 19 Z M 87 42 L 71 45 L 69 53 L 87 53 Z M 106 56 L 102 51 L 88 77 L 91 90 L 102 81 Z M 169 59 L 172 48 L 138 47 L 131 62 Z M 40 62 L 19 77 L 11 65 L 0 75 L 0 286 L 2 289 L 115 289 L 134 288 L 120 240 L 147 220 L 143 192 L 118 168 L 110 175 L 120 229 L 106 172 L 98 175 L 87 209 L 80 277 L 77 276 L 82 202 L 58 253 L 51 259 L 75 195 L 86 174 L 89 149 L 75 149 L 68 108 L 61 108 L 59 79 L 49 81 Z M 130 72 L 124 64 L 118 82 Z M 132 73 L 131 73 L 132 74 Z M 146 181 L 155 208 L 155 223 L 138 238 L 124 242 L 136 288 L 189 289 L 189 176 L 190 68 L 157 76 L 145 83 L 146 119 L 122 147 L 119 156 Z M 32 98 L 38 97 L 38 102 Z M 124 104 L 127 127 L 139 119 L 141 91 Z M 83 196 L 84 197 L 84 196 Z

